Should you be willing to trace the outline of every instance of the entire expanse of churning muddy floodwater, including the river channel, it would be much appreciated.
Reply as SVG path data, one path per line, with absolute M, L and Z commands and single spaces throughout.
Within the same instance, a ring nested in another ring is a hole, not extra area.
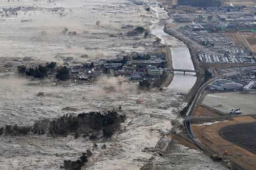
M 145 10 L 147 7 L 150 11 Z M 179 144 L 169 145 L 172 140 L 163 137 L 170 133 L 171 121 L 179 117 L 183 109 L 185 93 L 195 83 L 194 74 L 184 76 L 175 72 L 170 85 L 173 88 L 164 91 L 141 91 L 137 88 L 138 82 L 127 82 L 123 78 L 102 77 L 93 84 L 79 84 L 59 83 L 53 79 L 31 80 L 17 74 L 16 66 L 20 64 L 35 66 L 56 61 L 61 65 L 67 57 L 73 57 L 73 64 L 76 64 L 116 58 L 120 53 L 147 53 L 154 50 L 153 42 L 157 37 L 171 47 L 174 68 L 192 69 L 184 44 L 169 35 L 163 37 L 161 31 L 168 16 L 157 2 L 1 0 L 0 13 L 0 127 L 29 126 L 37 120 L 63 114 L 118 110 L 119 106 L 120 114 L 127 116 L 120 132 L 108 140 L 94 141 L 82 136 L 74 139 L 71 135 L 1 135 L 1 170 L 59 169 L 65 159 L 77 160 L 88 149 L 93 155 L 82 169 L 140 169 L 153 157 L 155 169 L 170 169 L 170 166 L 193 169 L 191 165 L 196 165 L 194 169 L 226 169 L 200 151 Z M 127 37 L 131 29 L 126 25 L 144 27 L 153 35 L 150 38 Z M 64 28 L 68 31 L 63 32 Z M 81 55 L 88 57 L 81 58 Z M 117 83 L 120 81 L 122 85 Z M 184 82 L 187 83 L 184 85 Z M 44 92 L 44 96 L 38 96 L 38 92 Z M 137 101 L 143 102 L 138 104 Z M 70 111 L 63 109 L 65 107 L 75 109 Z M 95 143 L 97 148 L 93 148 Z M 162 143 L 161 152 L 173 148 L 172 156 L 161 157 L 145 151 L 159 143 Z M 106 149 L 101 149 L 103 144 Z M 190 157 L 189 164 L 187 157 Z M 159 167 L 160 164 L 164 168 Z

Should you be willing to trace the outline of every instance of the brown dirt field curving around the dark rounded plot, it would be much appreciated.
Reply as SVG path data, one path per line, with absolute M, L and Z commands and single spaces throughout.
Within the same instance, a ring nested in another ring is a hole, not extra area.
M 224 151 L 228 151 L 229 155 L 224 156 L 224 158 L 230 159 L 246 169 L 253 170 L 255 169 L 256 155 L 225 140 L 219 135 L 220 129 L 225 126 L 250 122 L 256 122 L 256 119 L 251 116 L 240 116 L 233 117 L 232 120 L 227 122 L 209 126 L 192 125 L 192 129 L 197 138 L 211 150 L 214 150 L 223 156 Z

